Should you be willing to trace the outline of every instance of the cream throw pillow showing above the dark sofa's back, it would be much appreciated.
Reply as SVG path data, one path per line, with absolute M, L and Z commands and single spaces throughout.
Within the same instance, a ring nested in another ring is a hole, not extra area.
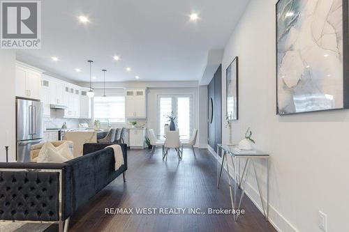
M 50 142 L 46 142 L 38 154 L 38 162 L 63 163 L 72 158 L 68 144 L 54 147 Z

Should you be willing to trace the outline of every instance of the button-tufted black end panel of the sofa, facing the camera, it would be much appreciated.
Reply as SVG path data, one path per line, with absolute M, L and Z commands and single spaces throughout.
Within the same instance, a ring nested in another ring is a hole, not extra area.
M 68 199 L 70 191 L 67 168 L 67 164 L 0 163 L 0 219 L 58 221 L 60 197 Z M 67 177 L 61 196 L 60 176 Z

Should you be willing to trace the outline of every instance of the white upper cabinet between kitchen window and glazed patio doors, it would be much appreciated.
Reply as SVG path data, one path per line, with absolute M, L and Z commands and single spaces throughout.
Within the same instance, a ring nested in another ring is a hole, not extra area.
M 126 118 L 147 118 L 146 90 L 126 90 Z

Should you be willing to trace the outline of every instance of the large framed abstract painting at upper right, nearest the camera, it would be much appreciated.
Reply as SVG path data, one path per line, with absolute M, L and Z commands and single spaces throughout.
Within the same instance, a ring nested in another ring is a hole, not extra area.
M 347 56 L 348 0 L 279 0 L 276 114 L 348 109 Z

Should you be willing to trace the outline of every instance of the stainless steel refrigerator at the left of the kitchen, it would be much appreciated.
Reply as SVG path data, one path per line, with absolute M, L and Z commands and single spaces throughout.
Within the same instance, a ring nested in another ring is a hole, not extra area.
M 30 162 L 30 146 L 43 141 L 43 103 L 16 100 L 17 162 Z

